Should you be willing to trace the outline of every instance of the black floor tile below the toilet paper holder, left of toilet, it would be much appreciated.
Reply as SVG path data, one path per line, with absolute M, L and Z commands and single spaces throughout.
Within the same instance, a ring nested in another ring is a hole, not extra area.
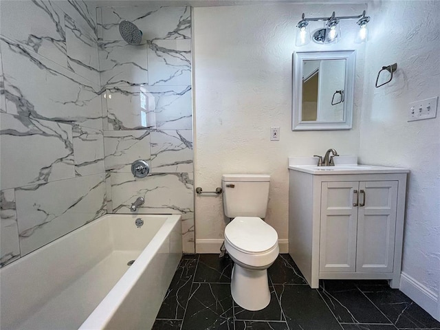
M 232 261 L 230 256 L 219 258 L 219 254 L 200 254 L 195 273 L 195 282 L 230 283 Z

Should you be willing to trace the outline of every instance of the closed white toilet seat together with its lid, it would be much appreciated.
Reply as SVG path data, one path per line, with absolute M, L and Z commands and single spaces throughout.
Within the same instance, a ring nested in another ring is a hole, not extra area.
M 236 217 L 225 228 L 225 248 L 250 267 L 268 267 L 279 253 L 276 230 L 257 217 Z

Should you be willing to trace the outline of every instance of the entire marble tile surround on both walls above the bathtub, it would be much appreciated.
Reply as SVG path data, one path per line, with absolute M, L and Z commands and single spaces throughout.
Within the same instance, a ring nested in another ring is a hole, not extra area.
M 139 196 L 140 213 L 183 214 L 193 253 L 190 8 L 0 6 L 0 265 Z M 122 19 L 142 45 L 122 41 Z

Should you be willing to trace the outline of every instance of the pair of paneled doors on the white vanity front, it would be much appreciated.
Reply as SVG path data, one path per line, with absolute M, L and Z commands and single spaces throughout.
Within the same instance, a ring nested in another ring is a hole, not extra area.
M 397 186 L 322 182 L 320 272 L 393 272 Z

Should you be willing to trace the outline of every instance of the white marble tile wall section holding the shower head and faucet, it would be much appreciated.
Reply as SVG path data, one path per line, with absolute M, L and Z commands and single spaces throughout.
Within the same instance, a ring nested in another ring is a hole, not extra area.
M 184 252 L 195 252 L 189 7 L 97 8 L 107 212 L 183 215 Z M 118 24 L 131 21 L 142 43 L 128 45 Z M 131 164 L 150 174 L 137 179 Z

